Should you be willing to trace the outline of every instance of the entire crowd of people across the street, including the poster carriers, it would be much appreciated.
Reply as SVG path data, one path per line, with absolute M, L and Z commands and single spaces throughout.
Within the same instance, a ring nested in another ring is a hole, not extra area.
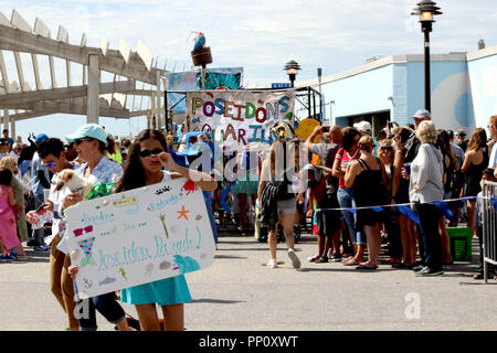
M 453 263 L 447 226 L 464 220 L 482 239 L 482 185 L 497 176 L 497 116 L 489 119 L 490 137 L 476 128 L 469 139 L 457 131 L 456 141 L 453 131 L 436 129 L 430 111 L 420 109 L 412 118 L 405 126 L 388 122 L 377 137 L 368 121 L 346 128 L 318 126 L 306 140 L 282 121 L 262 151 L 223 150 L 205 131 L 184 133 L 184 143 L 152 129 L 116 141 L 89 124 L 65 141 L 32 133 L 25 145 L 6 129 L 0 139 L 0 260 L 25 256 L 23 242 L 50 254 L 51 290 L 70 330 L 96 330 L 96 311 L 119 330 L 130 329 L 114 292 L 78 298 L 78 268 L 71 265 L 64 211 L 83 196 L 60 194 L 53 182 L 68 169 L 92 185 L 115 184 L 112 192 L 182 176 L 193 180 L 203 191 L 215 243 L 224 220 L 239 214 L 239 229 L 246 232 L 248 211 L 254 211 L 255 227 L 268 232 L 269 268 L 279 264 L 279 227 L 293 267 L 300 268 L 294 229 L 311 218 L 317 235 L 317 253 L 307 258 L 311 263 L 374 270 L 381 245 L 388 243 L 384 264 L 412 269 L 416 276 L 440 276 L 443 266 Z M 450 200 L 444 202 L 448 213 L 441 212 L 444 200 Z M 489 275 L 494 278 L 493 268 Z M 480 261 L 475 279 L 482 278 Z M 161 328 L 156 306 L 167 318 L 165 329 L 182 330 L 183 304 L 191 296 L 179 276 L 124 289 L 120 300 L 136 306 L 142 330 Z M 89 315 L 77 314 L 81 308 L 89 308 Z

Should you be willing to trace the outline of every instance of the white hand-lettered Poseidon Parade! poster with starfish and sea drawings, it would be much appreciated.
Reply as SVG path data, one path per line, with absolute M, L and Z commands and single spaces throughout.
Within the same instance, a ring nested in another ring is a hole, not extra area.
M 202 190 L 176 179 L 66 210 L 77 290 L 88 297 L 192 272 L 213 263 Z

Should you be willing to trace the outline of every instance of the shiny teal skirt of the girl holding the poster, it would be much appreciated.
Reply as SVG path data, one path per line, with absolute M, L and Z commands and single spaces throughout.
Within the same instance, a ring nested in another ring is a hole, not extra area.
M 120 300 L 128 304 L 172 306 L 191 301 L 183 275 L 120 290 Z

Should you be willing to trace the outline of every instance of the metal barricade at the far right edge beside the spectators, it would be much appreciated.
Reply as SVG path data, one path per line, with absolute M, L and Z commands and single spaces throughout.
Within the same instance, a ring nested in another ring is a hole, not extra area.
M 483 265 L 487 282 L 488 264 L 497 266 L 497 183 L 486 181 L 483 188 Z

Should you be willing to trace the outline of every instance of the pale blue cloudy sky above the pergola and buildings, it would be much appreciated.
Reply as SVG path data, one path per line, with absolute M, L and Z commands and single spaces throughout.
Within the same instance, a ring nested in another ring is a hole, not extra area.
M 211 67 L 243 66 L 248 86 L 267 87 L 286 82 L 283 66 L 297 61 L 303 69 L 298 79 L 316 76 L 317 67 L 331 75 L 361 65 L 371 56 L 421 54 L 423 35 L 410 13 L 417 0 L 286 0 L 286 1 L 138 1 L 138 0 L 2 0 L 0 11 L 10 19 L 17 9 L 31 24 L 40 18 L 56 35 L 59 24 L 70 33 L 70 42 L 80 44 L 86 33 L 87 45 L 99 46 L 107 38 L 110 49 L 126 41 L 131 50 L 141 41 L 158 57 L 158 66 L 190 69 L 190 31 L 202 31 L 211 46 Z M 444 13 L 433 25 L 432 53 L 470 52 L 479 39 L 497 45 L 497 1 L 440 0 Z M 4 52 L 6 54 L 6 52 Z M 6 55 L 9 62 L 8 55 Z M 13 61 L 11 61 L 13 63 Z M 47 66 L 44 84 L 49 86 Z M 23 64 L 31 67 L 30 56 Z M 12 64 L 11 64 L 12 65 Z M 65 81 L 63 62 L 57 63 L 57 81 Z M 44 67 L 44 68 L 43 68 Z M 81 67 L 81 66 L 80 66 Z M 81 84 L 81 68 L 73 68 L 73 84 Z M 17 79 L 11 67 L 10 79 Z M 113 76 L 103 76 L 112 81 Z M 31 77 L 27 74 L 27 79 Z M 33 81 L 34 82 L 34 81 Z M 31 84 L 34 86 L 34 84 Z M 63 137 L 85 117 L 53 115 L 20 121 L 17 135 L 46 132 Z M 137 133 L 144 119 L 103 118 L 102 125 L 114 135 Z

